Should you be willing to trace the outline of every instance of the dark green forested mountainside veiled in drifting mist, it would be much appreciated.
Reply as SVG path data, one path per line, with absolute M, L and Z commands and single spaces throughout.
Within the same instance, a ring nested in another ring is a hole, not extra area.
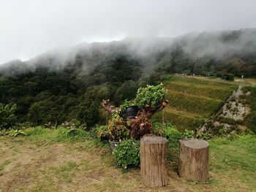
M 0 103 L 16 104 L 20 121 L 90 127 L 105 120 L 102 99 L 120 104 L 173 73 L 256 76 L 256 29 L 83 43 L 10 61 L 0 65 Z

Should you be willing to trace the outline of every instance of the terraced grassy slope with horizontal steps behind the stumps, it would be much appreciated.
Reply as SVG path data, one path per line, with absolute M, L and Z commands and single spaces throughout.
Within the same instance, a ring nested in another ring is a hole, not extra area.
M 194 129 L 214 115 L 238 85 L 203 77 L 174 76 L 165 83 L 170 101 L 154 118 L 173 123 L 179 130 Z

